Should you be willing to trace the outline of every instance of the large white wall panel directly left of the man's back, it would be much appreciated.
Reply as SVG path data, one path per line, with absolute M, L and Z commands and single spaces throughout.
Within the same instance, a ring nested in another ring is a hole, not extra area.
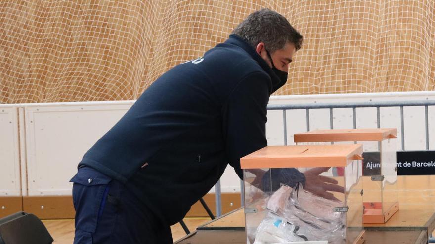
M 83 154 L 131 107 L 119 104 L 25 107 L 29 195 L 69 195 Z

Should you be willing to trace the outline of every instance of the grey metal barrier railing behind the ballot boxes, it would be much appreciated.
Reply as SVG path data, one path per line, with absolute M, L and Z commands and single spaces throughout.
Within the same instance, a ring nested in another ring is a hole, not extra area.
M 375 107 L 377 114 L 377 127 L 380 128 L 381 117 L 380 108 L 381 107 L 400 107 L 400 125 L 401 125 L 401 148 L 402 151 L 405 150 L 405 129 L 404 129 L 404 114 L 403 107 L 413 107 L 413 106 L 424 106 L 425 107 L 425 138 L 426 138 L 426 150 L 429 150 L 429 118 L 428 118 L 428 106 L 435 106 L 435 100 L 414 100 L 414 101 L 371 101 L 371 102 L 345 102 L 345 103 L 309 103 L 309 104 L 280 104 L 280 105 L 268 105 L 267 110 L 282 110 L 283 116 L 283 135 L 284 135 L 284 145 L 287 145 L 287 110 L 300 110 L 304 109 L 306 111 L 306 130 L 309 131 L 309 110 L 310 109 L 329 109 L 329 123 L 330 128 L 334 129 L 333 123 L 333 109 L 337 108 L 352 108 L 353 112 L 353 128 L 356 129 L 356 108 L 364 107 Z M 217 182 L 215 186 L 216 194 L 216 212 L 221 213 L 221 192 L 220 192 L 220 181 Z M 244 205 L 244 192 L 243 192 L 243 181 L 240 183 L 240 194 L 241 194 L 241 206 Z

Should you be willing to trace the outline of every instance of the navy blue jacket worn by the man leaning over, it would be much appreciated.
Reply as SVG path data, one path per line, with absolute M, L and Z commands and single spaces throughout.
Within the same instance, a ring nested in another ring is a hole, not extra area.
M 178 222 L 230 164 L 267 145 L 266 105 L 283 84 L 253 47 L 230 35 L 160 76 L 84 155 L 127 185 L 165 223 Z

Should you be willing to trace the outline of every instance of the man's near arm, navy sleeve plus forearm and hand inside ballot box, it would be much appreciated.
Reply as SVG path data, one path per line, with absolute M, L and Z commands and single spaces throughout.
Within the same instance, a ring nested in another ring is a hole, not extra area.
M 240 158 L 267 146 L 266 122 L 270 89 L 270 77 L 262 72 L 252 73 L 235 87 L 225 105 L 223 123 L 226 125 L 226 152 L 229 164 L 242 180 Z M 336 185 L 335 180 L 318 175 L 322 172 L 308 171 L 303 174 L 295 168 L 269 171 L 252 169 L 249 172 L 255 175 L 251 184 L 261 190 L 273 191 L 279 188 L 280 183 L 293 187 L 296 182 L 301 182 L 306 190 L 326 198 L 331 198 L 332 195 L 326 191 L 343 192 L 343 187 Z M 267 183 L 269 174 L 276 179 L 274 183 Z

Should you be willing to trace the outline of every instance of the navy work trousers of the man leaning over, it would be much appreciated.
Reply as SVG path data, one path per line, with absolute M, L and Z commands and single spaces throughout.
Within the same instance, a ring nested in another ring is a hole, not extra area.
M 74 244 L 171 244 L 171 228 L 110 177 L 82 167 L 71 179 Z

